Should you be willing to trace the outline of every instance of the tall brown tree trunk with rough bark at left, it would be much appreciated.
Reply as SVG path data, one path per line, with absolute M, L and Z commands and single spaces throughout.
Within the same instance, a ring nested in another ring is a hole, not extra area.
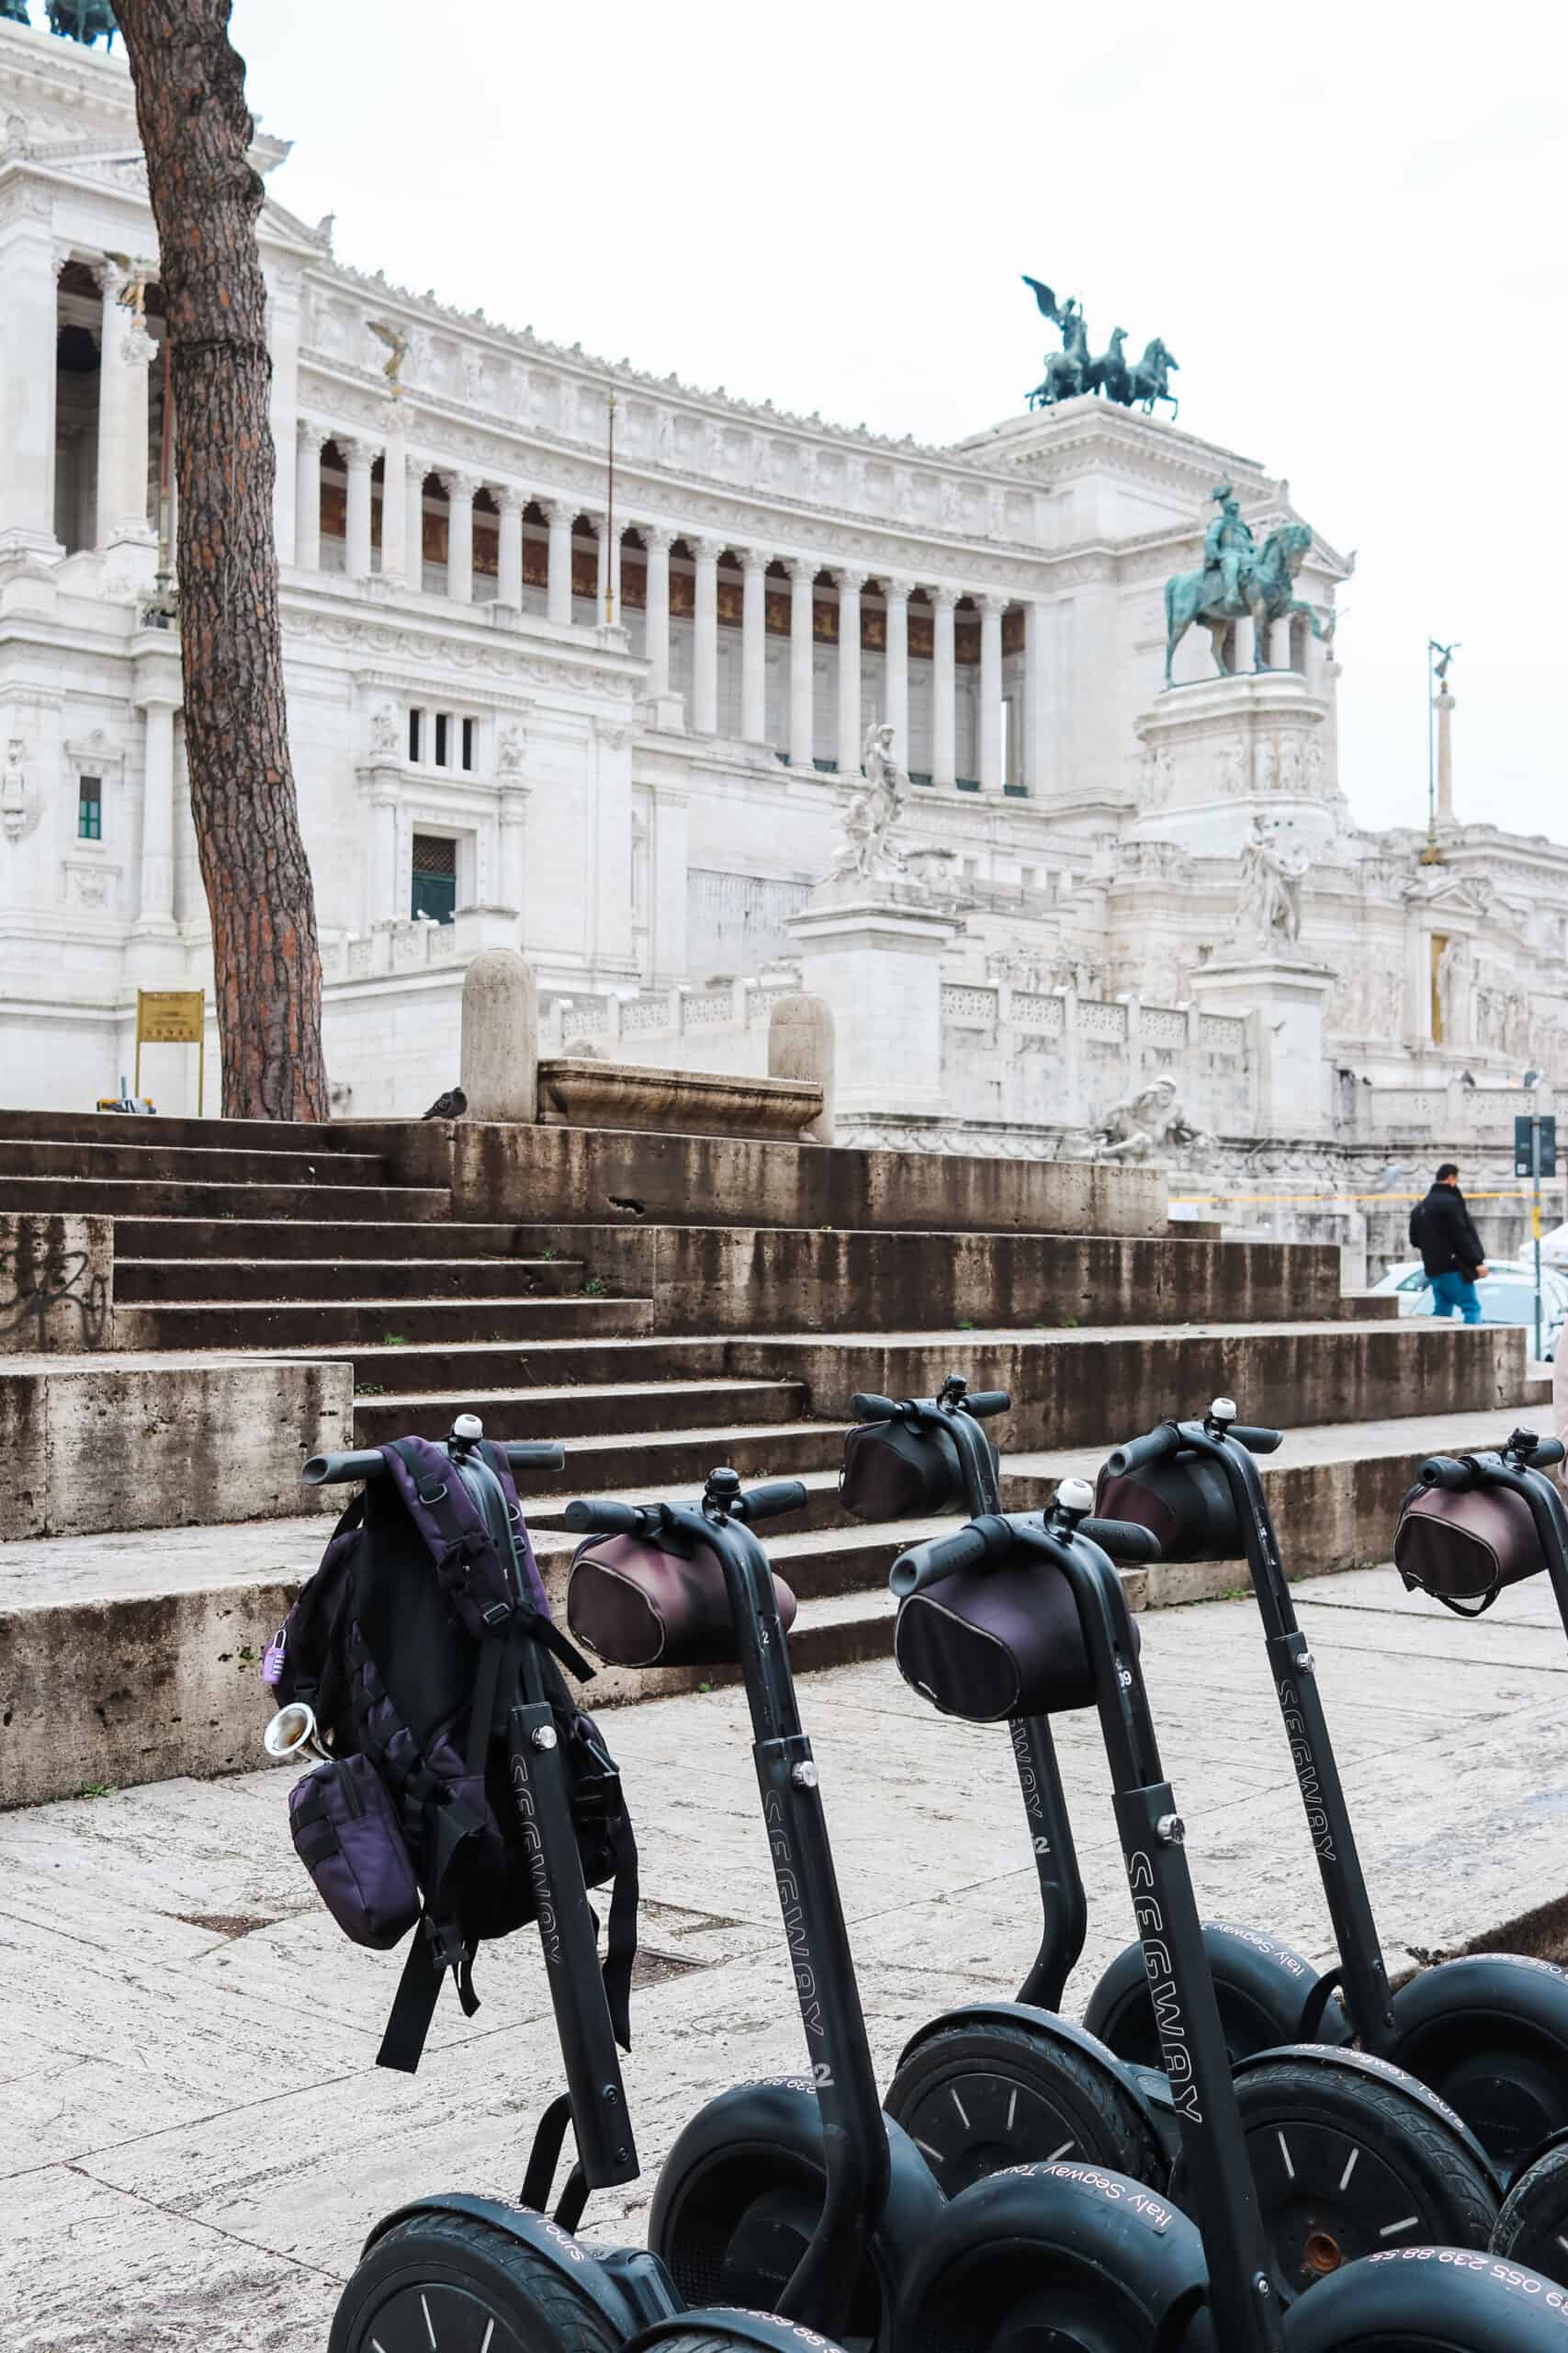
M 162 249 L 190 814 L 233 1120 L 324 1120 L 322 960 L 282 689 L 263 186 L 230 0 L 115 0 Z

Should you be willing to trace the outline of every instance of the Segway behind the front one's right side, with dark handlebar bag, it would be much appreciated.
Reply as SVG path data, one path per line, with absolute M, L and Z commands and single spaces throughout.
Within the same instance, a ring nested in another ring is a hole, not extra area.
M 1458 2108 L 1507 2181 L 1554 2127 L 1568 2122 L 1568 1977 L 1493 1953 L 1441 1962 L 1399 1993 L 1389 1991 L 1324 1697 L 1253 1461 L 1279 1445 L 1279 1431 L 1241 1428 L 1232 1400 L 1215 1398 L 1204 1421 L 1166 1421 L 1110 1454 L 1098 1501 L 1150 1527 L 1166 1560 L 1246 1555 L 1340 1953 L 1305 1998 L 1300 1984 L 1279 1972 L 1276 2002 L 1284 2014 L 1295 2005 L 1295 2038 L 1338 2038 L 1338 1991 L 1359 2047 Z M 1258 1960 L 1267 1967 L 1262 1955 Z M 1227 1953 L 1215 1946 L 1211 1965 L 1222 1974 Z M 1112 1962 L 1088 2005 L 1088 2024 L 1121 2057 L 1150 2049 L 1152 2019 L 1135 1948 Z

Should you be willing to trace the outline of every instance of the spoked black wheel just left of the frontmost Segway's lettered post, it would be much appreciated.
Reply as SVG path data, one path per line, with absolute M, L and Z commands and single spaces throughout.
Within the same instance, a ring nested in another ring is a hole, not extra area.
M 1009 2165 L 1103 2165 L 1164 2184 L 1168 2162 L 1124 2073 L 1046 2026 L 976 2019 L 907 2052 L 882 2101 L 947 2198 Z

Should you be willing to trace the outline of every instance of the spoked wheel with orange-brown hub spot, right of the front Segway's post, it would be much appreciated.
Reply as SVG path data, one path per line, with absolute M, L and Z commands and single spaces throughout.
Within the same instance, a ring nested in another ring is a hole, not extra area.
M 1396 2068 L 1359 2052 L 1262 2057 L 1237 2073 L 1237 2101 L 1281 2306 L 1359 2257 L 1488 2247 L 1497 2191 L 1481 2148 Z M 1192 2202 L 1185 2148 L 1171 2198 Z

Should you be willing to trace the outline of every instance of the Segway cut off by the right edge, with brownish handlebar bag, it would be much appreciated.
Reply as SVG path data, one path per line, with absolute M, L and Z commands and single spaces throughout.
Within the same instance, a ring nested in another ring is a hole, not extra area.
M 1544 1569 L 1568 1633 L 1568 1506 L 1547 1478 L 1561 1461 L 1561 1440 L 1535 1431 L 1514 1431 L 1495 1452 L 1425 1461 L 1394 1534 L 1394 1567 L 1406 1591 L 1429 1593 L 1458 1617 L 1483 1617 L 1507 1586 Z M 1474 1953 L 1446 1967 L 1490 1984 L 1495 1955 Z M 1512 1958 L 1512 1969 L 1540 1972 L 1554 2000 L 1554 1988 L 1568 1986 L 1549 1960 Z M 1568 2280 L 1568 2127 L 1561 2115 L 1556 2132 L 1519 2167 L 1493 2252 Z

